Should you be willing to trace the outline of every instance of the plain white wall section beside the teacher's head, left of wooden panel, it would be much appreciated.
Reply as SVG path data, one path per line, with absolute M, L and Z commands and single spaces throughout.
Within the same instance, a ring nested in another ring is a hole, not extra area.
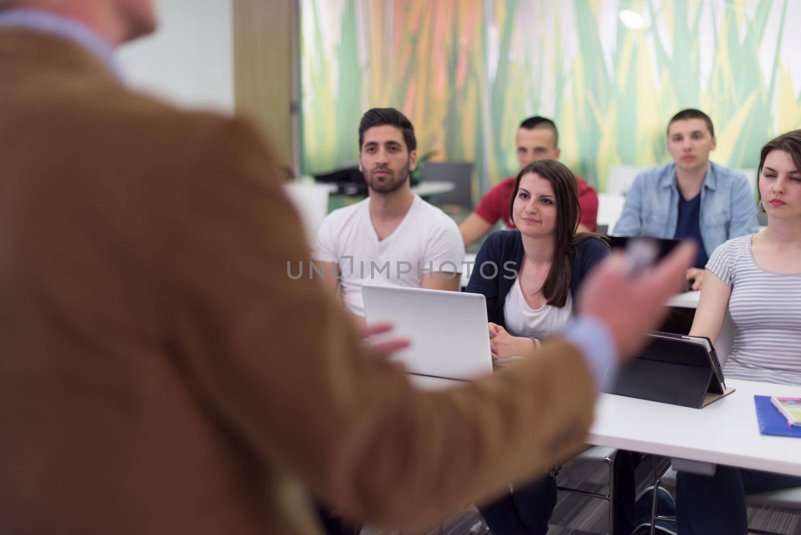
M 159 31 L 123 46 L 127 83 L 186 107 L 234 110 L 233 0 L 157 0 Z

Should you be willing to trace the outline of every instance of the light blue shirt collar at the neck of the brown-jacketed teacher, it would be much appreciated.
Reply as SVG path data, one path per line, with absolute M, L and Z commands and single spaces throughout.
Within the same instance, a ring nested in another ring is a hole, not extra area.
M 2 28 L 34 30 L 65 38 L 89 50 L 112 74 L 119 79 L 122 78 L 111 44 L 73 18 L 47 11 L 10 9 L 0 11 L 0 29 Z

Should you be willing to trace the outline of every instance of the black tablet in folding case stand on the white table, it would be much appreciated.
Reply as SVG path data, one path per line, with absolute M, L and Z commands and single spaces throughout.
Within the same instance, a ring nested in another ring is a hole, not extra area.
M 649 339 L 639 356 L 620 369 L 608 393 L 703 408 L 734 392 L 725 388 L 714 349 L 667 332 L 651 333 Z

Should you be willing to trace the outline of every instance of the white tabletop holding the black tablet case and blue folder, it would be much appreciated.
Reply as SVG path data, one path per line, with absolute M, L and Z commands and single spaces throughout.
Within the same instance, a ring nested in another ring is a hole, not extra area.
M 587 442 L 665 457 L 801 476 L 801 440 L 759 434 L 754 395 L 801 387 L 730 379 L 736 391 L 705 408 L 601 394 Z

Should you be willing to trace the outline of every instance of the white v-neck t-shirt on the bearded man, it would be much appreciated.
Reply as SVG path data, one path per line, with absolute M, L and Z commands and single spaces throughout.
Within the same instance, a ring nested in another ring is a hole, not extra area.
M 429 272 L 461 273 L 465 245 L 456 222 L 418 195 L 395 231 L 379 241 L 368 197 L 328 214 L 314 259 L 339 264 L 345 306 L 364 316 L 362 284 L 420 288 Z

